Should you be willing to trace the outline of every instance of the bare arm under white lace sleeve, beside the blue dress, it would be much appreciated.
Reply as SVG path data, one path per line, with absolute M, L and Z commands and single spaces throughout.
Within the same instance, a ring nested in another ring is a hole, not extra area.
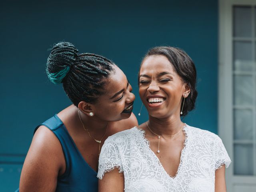
M 119 173 L 118 168 L 106 172 L 99 180 L 99 192 L 124 192 L 124 173 Z

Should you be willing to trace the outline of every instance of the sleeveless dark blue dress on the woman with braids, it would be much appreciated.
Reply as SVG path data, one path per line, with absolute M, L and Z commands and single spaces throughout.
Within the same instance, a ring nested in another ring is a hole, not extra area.
M 54 115 L 38 125 L 34 133 L 42 125 L 54 132 L 66 160 L 66 171 L 58 177 L 56 192 L 98 192 L 97 173 L 84 160 L 60 118 Z

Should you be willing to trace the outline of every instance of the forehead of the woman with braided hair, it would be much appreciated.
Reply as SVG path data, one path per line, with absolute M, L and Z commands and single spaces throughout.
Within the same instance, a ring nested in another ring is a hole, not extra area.
M 118 91 L 126 88 L 126 86 L 127 86 L 127 78 L 124 72 L 120 68 L 118 68 L 118 66 L 116 66 L 115 72 L 111 74 L 108 80 L 106 80 L 105 82 L 105 85 L 104 85 L 105 94 L 103 96 L 110 98 Z

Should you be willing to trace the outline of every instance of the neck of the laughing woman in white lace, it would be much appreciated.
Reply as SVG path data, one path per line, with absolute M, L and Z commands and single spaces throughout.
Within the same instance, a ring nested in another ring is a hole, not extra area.
M 148 126 L 150 127 L 150 129 L 160 136 L 174 135 L 178 131 L 180 131 L 182 125 L 183 123 L 180 118 L 172 117 L 166 119 L 159 119 L 150 116 L 148 122 Z

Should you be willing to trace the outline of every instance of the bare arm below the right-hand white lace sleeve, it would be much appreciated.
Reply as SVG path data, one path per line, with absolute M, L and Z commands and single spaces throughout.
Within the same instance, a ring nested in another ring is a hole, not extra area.
M 215 192 L 226 192 L 225 164 L 215 172 Z

